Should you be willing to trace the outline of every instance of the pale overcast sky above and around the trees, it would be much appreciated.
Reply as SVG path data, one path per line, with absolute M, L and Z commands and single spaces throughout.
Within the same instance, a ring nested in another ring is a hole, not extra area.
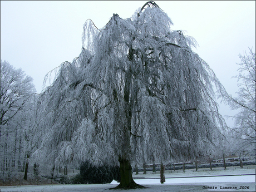
M 42 91 L 47 72 L 82 48 L 83 24 L 102 28 L 113 13 L 129 18 L 147 1 L 1 1 L 1 60 L 22 68 Z M 239 53 L 255 52 L 255 1 L 155 1 L 199 47 L 194 49 L 235 95 Z M 222 115 L 234 115 L 220 105 Z M 232 122 L 230 121 L 230 124 Z

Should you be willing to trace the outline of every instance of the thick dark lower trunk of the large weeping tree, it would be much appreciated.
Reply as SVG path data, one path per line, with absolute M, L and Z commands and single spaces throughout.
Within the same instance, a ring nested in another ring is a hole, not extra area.
M 114 189 L 136 189 L 136 188 L 145 188 L 144 186 L 138 185 L 135 183 L 134 179 L 132 179 L 132 168 L 129 160 L 120 159 L 120 173 L 121 173 L 121 181 L 120 184 L 117 185 Z

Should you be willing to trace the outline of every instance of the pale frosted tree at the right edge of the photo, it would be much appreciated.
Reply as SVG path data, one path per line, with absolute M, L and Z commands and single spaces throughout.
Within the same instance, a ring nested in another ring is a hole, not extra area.
M 237 147 L 242 152 L 243 155 L 255 155 L 255 144 L 256 144 L 256 102 L 255 102 L 255 53 L 252 48 L 249 48 L 249 55 L 244 52 L 244 55 L 239 54 L 240 63 L 238 72 L 239 74 L 235 76 L 238 79 L 239 90 L 237 92 L 237 97 L 232 97 L 227 93 L 223 94 L 223 100 L 229 104 L 232 110 L 238 110 L 234 118 L 234 127 L 231 129 L 235 133 L 235 139 L 239 144 Z M 239 154 L 240 154 L 239 152 Z

